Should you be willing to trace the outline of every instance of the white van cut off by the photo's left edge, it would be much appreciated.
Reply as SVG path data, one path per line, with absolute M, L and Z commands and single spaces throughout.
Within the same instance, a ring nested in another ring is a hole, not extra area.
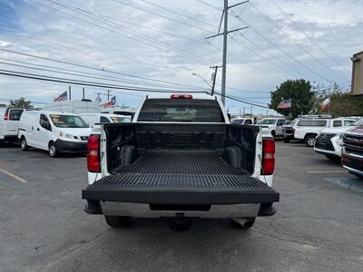
M 23 112 L 21 108 L 0 108 L 0 144 L 17 141 L 17 129 Z

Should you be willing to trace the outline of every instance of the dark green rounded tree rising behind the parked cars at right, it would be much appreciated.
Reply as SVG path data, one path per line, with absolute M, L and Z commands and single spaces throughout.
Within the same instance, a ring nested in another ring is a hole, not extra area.
M 271 92 L 270 109 L 291 118 L 296 118 L 299 114 L 308 114 L 314 106 L 314 92 L 311 85 L 304 79 L 288 80 L 281 83 L 276 91 Z M 280 102 L 291 99 L 291 109 L 278 109 Z

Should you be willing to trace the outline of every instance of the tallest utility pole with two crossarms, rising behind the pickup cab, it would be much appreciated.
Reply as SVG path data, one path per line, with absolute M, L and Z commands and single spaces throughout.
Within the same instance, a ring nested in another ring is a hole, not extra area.
M 223 105 L 225 104 L 225 95 L 226 95 L 226 74 L 227 74 L 226 68 L 227 68 L 227 39 L 228 39 L 228 34 L 248 28 L 248 26 L 244 26 L 244 27 L 240 27 L 240 28 L 233 29 L 233 30 L 229 31 L 228 30 L 228 11 L 232 7 L 235 7 L 237 5 L 242 5 L 242 4 L 245 4 L 245 3 L 248 3 L 248 2 L 249 2 L 249 0 L 229 6 L 228 5 L 228 0 L 224 0 L 224 8 L 223 8 L 223 13 L 221 15 L 221 20 L 224 19 L 223 33 L 220 33 L 220 30 L 221 30 L 221 23 L 220 23 L 220 28 L 218 30 L 218 34 L 211 35 L 211 36 L 205 38 L 206 40 L 208 40 L 208 39 L 223 35 L 223 57 L 222 57 L 223 70 L 221 72 L 221 102 L 223 103 Z M 223 18 L 223 16 L 224 16 L 224 18 Z

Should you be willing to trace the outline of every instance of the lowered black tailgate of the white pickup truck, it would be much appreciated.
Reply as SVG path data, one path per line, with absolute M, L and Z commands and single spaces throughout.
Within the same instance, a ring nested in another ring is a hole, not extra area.
M 280 194 L 249 176 L 141 175 L 104 177 L 83 189 L 87 200 L 180 205 L 278 202 Z M 214 181 L 214 182 L 213 182 Z

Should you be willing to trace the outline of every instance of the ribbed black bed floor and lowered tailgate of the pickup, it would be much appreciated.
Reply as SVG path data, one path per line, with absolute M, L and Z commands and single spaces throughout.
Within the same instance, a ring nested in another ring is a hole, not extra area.
M 279 201 L 279 193 L 231 167 L 215 151 L 147 151 L 83 190 L 83 199 L 148 204 Z

